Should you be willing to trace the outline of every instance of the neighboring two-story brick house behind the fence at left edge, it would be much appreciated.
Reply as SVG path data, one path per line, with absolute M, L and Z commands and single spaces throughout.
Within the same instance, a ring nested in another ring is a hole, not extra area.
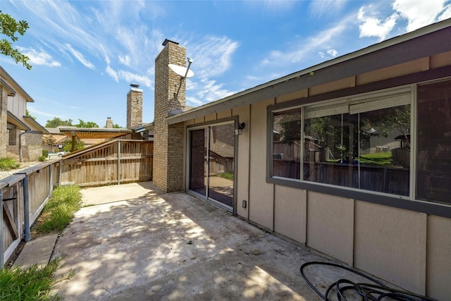
M 47 130 L 26 115 L 27 102 L 35 102 L 0 66 L 0 157 L 37 161 L 42 155 L 42 135 Z

